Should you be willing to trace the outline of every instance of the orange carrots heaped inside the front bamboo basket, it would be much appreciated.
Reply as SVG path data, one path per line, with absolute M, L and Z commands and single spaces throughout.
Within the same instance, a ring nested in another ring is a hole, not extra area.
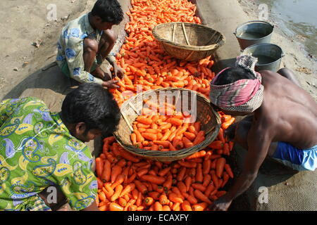
M 159 115 L 157 111 L 162 110 L 159 105 L 151 101 L 147 101 L 146 105 L 151 106 L 151 109 L 143 108 L 143 113 L 149 115 L 139 115 L 133 122 L 133 132 L 130 134 L 133 146 L 147 150 L 169 151 L 190 148 L 205 140 L 201 122 L 191 123 L 191 115 L 176 112 L 174 105 L 166 103 L 166 107 L 163 106 L 164 115 Z

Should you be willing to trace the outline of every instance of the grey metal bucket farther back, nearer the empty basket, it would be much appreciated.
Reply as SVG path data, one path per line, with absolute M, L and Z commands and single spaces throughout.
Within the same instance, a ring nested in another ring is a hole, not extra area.
M 261 43 L 270 43 L 274 25 L 262 20 L 253 20 L 237 27 L 235 37 L 244 50 L 248 46 Z

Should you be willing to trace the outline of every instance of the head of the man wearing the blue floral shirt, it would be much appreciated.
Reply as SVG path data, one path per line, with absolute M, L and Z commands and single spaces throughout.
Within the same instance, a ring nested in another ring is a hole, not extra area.
M 110 30 L 123 20 L 123 11 L 117 0 L 98 0 L 91 15 L 92 23 L 98 30 Z

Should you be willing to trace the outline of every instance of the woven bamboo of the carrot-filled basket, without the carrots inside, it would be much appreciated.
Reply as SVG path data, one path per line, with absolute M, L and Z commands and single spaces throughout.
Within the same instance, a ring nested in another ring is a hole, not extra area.
M 132 123 L 141 115 L 144 99 L 156 101 L 157 104 L 160 104 L 160 101 L 161 103 L 166 102 L 166 99 L 168 99 L 169 103 L 175 105 L 177 109 L 181 108 L 182 112 L 185 110 L 184 105 L 187 104 L 186 108 L 190 108 L 192 115 L 196 115 L 197 121 L 201 122 L 201 129 L 206 133 L 205 140 L 197 146 L 175 151 L 145 150 L 132 146 L 130 139 L 133 130 Z M 206 148 L 209 143 L 216 139 L 221 124 L 220 117 L 211 107 L 209 99 L 196 91 L 182 88 L 154 89 L 139 93 L 125 101 L 121 105 L 120 111 L 121 119 L 118 130 L 113 134 L 120 146 L 135 155 L 162 162 L 181 160 Z

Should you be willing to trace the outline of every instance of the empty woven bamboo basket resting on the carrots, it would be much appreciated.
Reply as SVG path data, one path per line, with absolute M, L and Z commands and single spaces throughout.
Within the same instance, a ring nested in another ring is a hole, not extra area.
M 196 23 L 161 23 L 152 33 L 170 56 L 180 60 L 201 60 L 225 44 L 223 34 Z

